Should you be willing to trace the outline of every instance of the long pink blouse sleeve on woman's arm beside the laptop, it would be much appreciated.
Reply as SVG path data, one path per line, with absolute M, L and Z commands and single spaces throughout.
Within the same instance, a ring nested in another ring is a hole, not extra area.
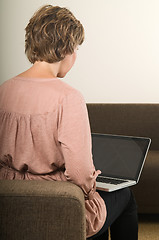
M 59 116 L 58 141 L 65 161 L 66 179 L 82 188 L 86 199 L 96 191 L 91 133 L 85 101 L 78 91 L 65 96 Z

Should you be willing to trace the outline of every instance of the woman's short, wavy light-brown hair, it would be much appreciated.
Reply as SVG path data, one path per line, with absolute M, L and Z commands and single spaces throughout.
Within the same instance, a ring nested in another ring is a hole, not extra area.
M 84 41 L 84 28 L 67 9 L 45 5 L 25 28 L 25 53 L 31 63 L 59 62 Z

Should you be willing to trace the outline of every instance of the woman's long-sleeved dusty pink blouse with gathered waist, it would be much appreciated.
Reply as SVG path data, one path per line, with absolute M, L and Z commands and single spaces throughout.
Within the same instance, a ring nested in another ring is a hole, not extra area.
M 0 86 L 0 179 L 70 181 L 85 196 L 87 237 L 106 219 L 96 192 L 85 101 L 58 78 L 15 77 Z

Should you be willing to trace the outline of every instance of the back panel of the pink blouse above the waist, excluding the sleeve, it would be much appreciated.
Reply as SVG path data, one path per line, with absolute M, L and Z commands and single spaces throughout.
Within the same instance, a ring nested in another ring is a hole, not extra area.
M 16 170 L 34 174 L 64 170 L 58 121 L 63 99 L 74 92 L 58 78 L 6 81 L 0 87 L 1 159 L 9 154 Z

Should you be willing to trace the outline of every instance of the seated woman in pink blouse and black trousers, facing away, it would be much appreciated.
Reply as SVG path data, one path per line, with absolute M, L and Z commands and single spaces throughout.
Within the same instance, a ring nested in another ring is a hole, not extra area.
M 59 79 L 72 68 L 83 40 L 83 26 L 66 8 L 46 5 L 30 19 L 25 52 L 33 65 L 0 86 L 0 179 L 71 181 L 80 186 L 87 237 L 105 239 L 116 220 L 130 212 L 136 216 L 136 205 L 128 189 L 96 191 L 100 171 L 92 161 L 86 104 Z M 119 226 L 114 231 L 124 237 Z M 136 226 L 134 220 L 129 227 L 134 236 Z

